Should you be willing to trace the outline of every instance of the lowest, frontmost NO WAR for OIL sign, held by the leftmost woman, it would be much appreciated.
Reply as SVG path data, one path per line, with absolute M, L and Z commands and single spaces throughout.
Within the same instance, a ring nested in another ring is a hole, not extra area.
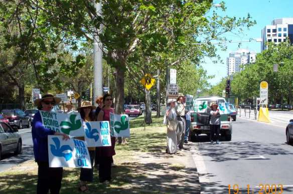
M 85 141 L 61 135 L 48 135 L 50 167 L 91 168 L 90 156 Z

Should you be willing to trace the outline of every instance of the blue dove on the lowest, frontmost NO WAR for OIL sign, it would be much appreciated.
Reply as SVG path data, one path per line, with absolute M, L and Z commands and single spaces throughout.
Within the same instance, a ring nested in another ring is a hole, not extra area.
M 52 154 L 57 157 L 64 157 L 66 161 L 70 160 L 72 158 L 72 148 L 69 145 L 60 147 L 60 140 L 57 137 L 53 137 L 52 140 L 55 143 L 55 145 L 50 144 Z

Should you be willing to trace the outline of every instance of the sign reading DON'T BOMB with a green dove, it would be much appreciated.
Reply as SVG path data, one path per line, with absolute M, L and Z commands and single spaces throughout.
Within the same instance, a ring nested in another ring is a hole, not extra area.
M 84 136 L 84 129 L 79 113 L 65 114 L 58 112 L 40 111 L 43 125 L 71 137 Z

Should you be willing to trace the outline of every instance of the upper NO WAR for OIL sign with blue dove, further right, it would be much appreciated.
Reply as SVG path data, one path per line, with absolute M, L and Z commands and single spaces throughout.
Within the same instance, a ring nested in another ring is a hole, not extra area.
M 88 147 L 111 146 L 109 121 L 84 122 L 83 127 Z

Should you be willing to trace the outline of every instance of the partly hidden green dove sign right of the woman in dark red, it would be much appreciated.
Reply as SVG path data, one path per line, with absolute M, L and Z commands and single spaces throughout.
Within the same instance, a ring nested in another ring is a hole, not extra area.
M 129 118 L 126 114 L 110 113 L 111 133 L 115 137 L 130 137 Z

